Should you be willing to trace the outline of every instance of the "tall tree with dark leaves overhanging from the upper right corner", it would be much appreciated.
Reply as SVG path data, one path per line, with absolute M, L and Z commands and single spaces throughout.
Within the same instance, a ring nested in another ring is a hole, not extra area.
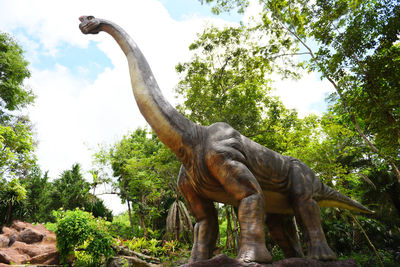
M 206 2 L 216 2 L 215 12 L 232 7 L 243 11 L 248 4 L 244 0 Z M 347 118 L 348 127 L 400 183 L 398 3 L 268 0 L 261 4 L 264 10 L 253 28 L 264 31 L 267 39 L 289 38 L 292 49 L 302 48 L 309 55 L 305 66 L 318 71 L 336 90 L 331 97 L 335 112 Z M 266 58 L 280 51 L 280 46 L 268 50 Z

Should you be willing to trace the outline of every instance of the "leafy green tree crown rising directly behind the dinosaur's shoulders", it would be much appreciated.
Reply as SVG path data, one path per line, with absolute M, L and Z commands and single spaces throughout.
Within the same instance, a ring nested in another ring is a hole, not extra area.
M 176 91 L 184 97 L 178 109 L 202 125 L 224 121 L 246 136 L 259 133 L 266 110 L 280 105 L 269 96 L 273 61 L 255 46 L 261 38 L 244 27 L 205 29 L 189 47 L 191 61 L 176 66 Z

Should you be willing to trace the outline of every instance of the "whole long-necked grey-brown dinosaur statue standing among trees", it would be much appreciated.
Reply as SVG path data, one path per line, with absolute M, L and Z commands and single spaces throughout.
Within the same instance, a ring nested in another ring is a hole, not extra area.
M 182 162 L 178 188 L 196 219 L 189 262 L 212 256 L 218 233 L 214 202 L 238 208 L 243 262 L 271 262 L 264 223 L 286 257 L 302 257 L 294 218 L 303 229 L 308 257 L 334 260 L 321 227 L 319 206 L 373 211 L 324 185 L 300 160 L 241 135 L 226 123 L 197 125 L 163 97 L 136 43 L 118 25 L 82 16 L 84 34 L 105 31 L 125 53 L 137 105 L 160 140 Z M 265 221 L 264 221 L 265 218 Z

